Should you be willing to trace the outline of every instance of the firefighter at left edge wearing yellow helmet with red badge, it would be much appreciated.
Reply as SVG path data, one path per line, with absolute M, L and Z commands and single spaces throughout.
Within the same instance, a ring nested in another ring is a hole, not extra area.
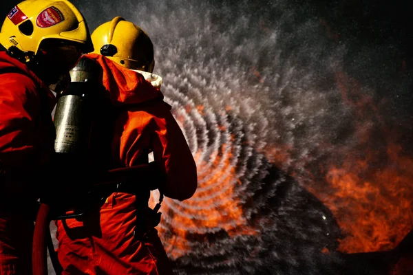
M 53 170 L 55 98 L 48 85 L 93 45 L 70 1 L 31 0 L 10 10 L 0 47 L 0 274 L 28 275 L 39 183 Z

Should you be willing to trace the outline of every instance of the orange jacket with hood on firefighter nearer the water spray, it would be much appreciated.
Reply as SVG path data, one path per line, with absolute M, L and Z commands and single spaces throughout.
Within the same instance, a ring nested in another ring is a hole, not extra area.
M 195 161 L 171 107 L 162 101 L 162 92 L 141 74 L 105 56 L 86 57 L 102 67 L 103 86 L 109 91 L 112 104 L 129 109 L 115 122 L 114 162 L 123 167 L 133 166 L 149 149 L 167 175 L 167 181 L 160 186 L 164 195 L 181 201 L 192 197 L 197 188 Z

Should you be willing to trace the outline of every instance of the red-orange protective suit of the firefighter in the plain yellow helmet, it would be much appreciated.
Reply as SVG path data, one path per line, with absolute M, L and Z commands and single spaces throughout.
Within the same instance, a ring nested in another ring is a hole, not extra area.
M 103 69 L 103 85 L 116 106 L 125 107 L 114 123 L 112 157 L 119 166 L 133 166 L 149 151 L 165 182 L 136 179 L 140 195 L 109 192 L 82 221 L 58 221 L 57 253 L 63 274 L 172 274 L 155 228 L 141 235 L 149 190 L 157 186 L 172 199 L 189 199 L 197 188 L 195 161 L 162 93 L 142 74 L 98 54 L 87 54 Z M 129 107 L 127 107 L 129 106 Z M 156 187 L 155 187 L 156 188 Z M 138 206 L 137 206 L 138 205 Z

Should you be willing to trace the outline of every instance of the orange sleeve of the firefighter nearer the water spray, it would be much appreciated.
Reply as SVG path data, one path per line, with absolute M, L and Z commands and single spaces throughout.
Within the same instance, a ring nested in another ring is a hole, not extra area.
M 159 187 L 166 197 L 183 201 L 193 196 L 198 186 L 195 160 L 168 104 L 158 100 L 129 111 L 120 143 L 128 166 L 140 148 L 153 151 L 154 162 L 166 175 Z

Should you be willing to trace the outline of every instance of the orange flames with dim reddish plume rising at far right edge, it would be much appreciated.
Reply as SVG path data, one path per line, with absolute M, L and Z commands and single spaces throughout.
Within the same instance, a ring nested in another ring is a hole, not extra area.
M 392 250 L 413 227 L 413 158 L 379 115 L 383 102 L 363 96 L 359 83 L 343 73 L 337 74 L 337 83 L 343 101 L 355 109 L 358 145 L 338 151 L 346 157 L 324 168 L 329 190 L 321 184 L 309 189 L 330 208 L 346 235 L 341 252 Z

